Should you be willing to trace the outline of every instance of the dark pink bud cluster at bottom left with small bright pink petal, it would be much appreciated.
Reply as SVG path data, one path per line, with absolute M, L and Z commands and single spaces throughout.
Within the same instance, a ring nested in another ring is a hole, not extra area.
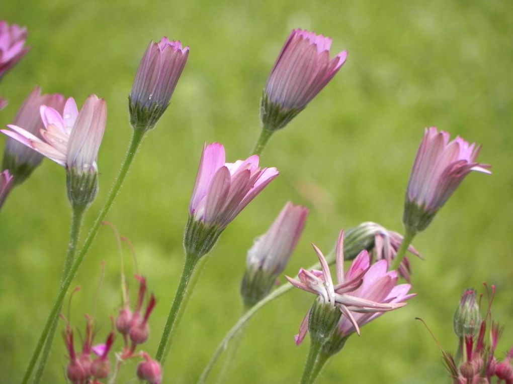
M 99 384 L 100 382 L 97 379 L 106 378 L 110 372 L 108 353 L 114 343 L 114 333 L 109 333 L 105 344 L 93 347 L 93 321 L 89 316 L 86 316 L 86 319 L 86 331 L 80 355 L 75 352 L 73 330 L 69 324 L 66 325 L 64 331 L 64 342 L 69 355 L 66 374 L 73 384 Z M 98 357 L 92 359 L 91 354 L 97 354 Z

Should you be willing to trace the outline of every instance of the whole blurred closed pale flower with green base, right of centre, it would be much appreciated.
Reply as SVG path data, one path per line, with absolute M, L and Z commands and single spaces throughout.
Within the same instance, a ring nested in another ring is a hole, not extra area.
M 248 251 L 241 294 L 246 306 L 261 300 L 285 269 L 303 231 L 308 208 L 288 201 L 266 233 Z

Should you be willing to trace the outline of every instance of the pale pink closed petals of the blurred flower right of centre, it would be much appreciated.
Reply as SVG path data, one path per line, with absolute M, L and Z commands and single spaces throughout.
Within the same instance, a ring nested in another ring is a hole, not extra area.
M 288 201 L 271 227 L 248 251 L 247 269 L 274 276 L 281 273 L 299 241 L 307 216 L 308 208 Z

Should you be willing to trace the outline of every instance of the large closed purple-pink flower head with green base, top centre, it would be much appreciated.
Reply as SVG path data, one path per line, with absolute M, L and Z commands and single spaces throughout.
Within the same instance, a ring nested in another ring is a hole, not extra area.
M 269 130 L 284 127 L 339 71 L 343 51 L 330 60 L 331 39 L 294 29 L 274 62 L 264 89 L 261 119 Z

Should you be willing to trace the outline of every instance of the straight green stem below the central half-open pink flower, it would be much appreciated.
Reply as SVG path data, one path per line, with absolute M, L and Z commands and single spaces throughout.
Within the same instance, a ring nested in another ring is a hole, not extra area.
M 196 264 L 200 259 L 195 257 L 194 255 L 186 255 L 184 270 L 182 271 L 182 278 L 180 279 L 180 283 L 178 288 L 176 289 L 176 294 L 174 296 L 173 304 L 171 305 L 171 309 L 169 310 L 169 315 L 167 316 L 167 321 L 164 326 L 164 331 L 162 332 L 162 337 L 159 345 L 159 349 L 155 355 L 155 360 L 159 361 L 161 365 L 164 365 L 166 361 L 166 357 L 169 353 L 169 349 L 172 342 L 172 331 L 175 326 L 178 325 L 178 315 L 182 309 L 182 302 L 184 301 L 184 297 L 186 296 L 187 287 L 189 286 L 189 282 L 196 268 Z M 191 287 L 192 288 L 192 287 Z M 185 302 L 186 304 L 186 302 Z

